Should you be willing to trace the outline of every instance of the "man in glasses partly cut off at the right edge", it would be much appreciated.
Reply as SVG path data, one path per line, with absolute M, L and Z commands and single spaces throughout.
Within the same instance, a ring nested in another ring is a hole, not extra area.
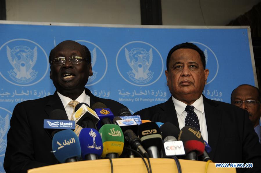
M 261 93 L 258 88 L 252 85 L 239 85 L 231 93 L 231 103 L 249 113 L 249 119 L 253 124 L 255 132 L 258 134 L 259 142 L 261 143 Z

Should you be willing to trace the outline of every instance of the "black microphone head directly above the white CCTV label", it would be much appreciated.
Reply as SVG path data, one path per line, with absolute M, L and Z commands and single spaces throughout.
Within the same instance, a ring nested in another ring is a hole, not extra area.
M 162 138 L 165 139 L 167 136 L 179 137 L 179 129 L 172 123 L 166 122 L 159 128 L 162 133 Z

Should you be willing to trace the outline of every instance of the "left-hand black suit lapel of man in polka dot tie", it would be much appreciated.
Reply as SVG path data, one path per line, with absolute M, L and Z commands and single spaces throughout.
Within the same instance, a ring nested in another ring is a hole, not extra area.
M 170 122 L 179 129 L 179 121 L 177 118 L 177 112 L 175 110 L 172 96 L 160 107 L 163 111 L 160 112 L 160 119 L 162 123 Z

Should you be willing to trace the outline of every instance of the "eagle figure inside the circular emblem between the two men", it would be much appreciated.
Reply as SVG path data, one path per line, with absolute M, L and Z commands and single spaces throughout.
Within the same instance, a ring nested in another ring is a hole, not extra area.
M 134 48 L 128 51 L 125 48 L 125 57 L 132 68 L 132 71 L 127 72 L 129 78 L 136 83 L 147 83 L 153 77 L 153 72 L 149 70 L 152 64 L 152 48 L 147 52 L 143 48 Z

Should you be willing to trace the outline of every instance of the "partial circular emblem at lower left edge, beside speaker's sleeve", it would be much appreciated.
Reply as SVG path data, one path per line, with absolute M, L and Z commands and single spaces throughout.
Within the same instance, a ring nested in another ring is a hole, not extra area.
M 3 156 L 6 150 L 6 134 L 9 129 L 9 118 L 11 115 L 10 111 L 0 107 L 0 156 Z

